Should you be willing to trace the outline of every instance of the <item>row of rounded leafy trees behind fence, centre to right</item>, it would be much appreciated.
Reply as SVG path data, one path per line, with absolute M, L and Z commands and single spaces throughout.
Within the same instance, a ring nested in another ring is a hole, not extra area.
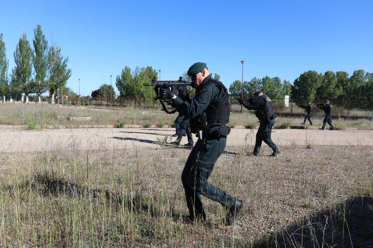
M 135 70 L 126 66 L 116 77 L 118 96 L 154 97 L 153 87 L 143 86 L 144 83 L 150 83 L 153 77 L 158 78 L 158 73 L 151 66 L 136 67 Z M 214 74 L 213 78 L 220 80 L 220 75 Z M 186 72 L 183 73 L 182 79 L 189 80 Z M 373 73 L 356 70 L 349 77 L 345 71 L 336 73 L 326 71 L 324 74 L 306 71 L 296 78 L 293 84 L 287 80 L 281 81 L 279 77 L 266 76 L 254 77 L 251 81 L 244 81 L 243 84 L 241 80 L 235 80 L 229 86 L 231 97 L 241 97 L 241 92 L 243 92 L 244 98 L 252 98 L 257 90 L 262 90 L 264 94 L 273 99 L 281 99 L 285 95 L 293 99 L 372 99 Z M 191 96 L 194 96 L 195 90 L 189 87 L 189 91 L 191 91 Z

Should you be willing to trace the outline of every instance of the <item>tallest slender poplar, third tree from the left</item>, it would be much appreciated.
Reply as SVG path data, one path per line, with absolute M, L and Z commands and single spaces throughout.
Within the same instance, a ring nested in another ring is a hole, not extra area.
M 40 101 L 40 96 L 48 90 L 48 81 L 46 80 L 48 71 L 48 42 L 43 35 L 40 25 L 34 29 L 35 39 L 34 49 L 35 54 L 32 57 L 32 63 L 35 69 L 35 93 L 38 96 L 38 101 Z

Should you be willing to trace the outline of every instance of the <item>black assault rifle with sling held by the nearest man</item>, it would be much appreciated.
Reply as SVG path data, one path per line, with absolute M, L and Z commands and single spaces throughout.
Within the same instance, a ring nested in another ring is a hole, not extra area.
M 176 96 L 178 95 L 178 90 L 181 90 L 185 88 L 186 86 L 190 86 L 192 83 L 187 82 L 185 80 L 182 80 L 182 77 L 179 77 L 179 80 L 177 81 L 157 81 L 156 77 L 153 78 L 150 84 L 144 84 L 144 86 L 154 86 L 154 91 L 156 91 L 157 97 L 154 98 L 154 100 L 158 100 L 161 103 L 163 109 L 166 113 L 171 113 L 166 109 L 166 106 L 164 106 L 163 102 L 167 102 L 169 105 L 171 105 L 170 100 L 162 101 L 159 98 L 159 88 L 163 87 L 170 87 L 173 94 Z M 174 112 L 175 113 L 175 112 Z

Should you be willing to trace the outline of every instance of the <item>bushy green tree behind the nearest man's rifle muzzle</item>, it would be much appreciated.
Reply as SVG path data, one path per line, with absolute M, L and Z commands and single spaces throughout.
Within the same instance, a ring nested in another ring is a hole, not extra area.
M 136 67 L 133 72 L 126 66 L 116 78 L 119 97 L 155 97 L 154 88 L 143 85 L 151 83 L 154 77 L 157 78 L 157 73 L 151 66 Z

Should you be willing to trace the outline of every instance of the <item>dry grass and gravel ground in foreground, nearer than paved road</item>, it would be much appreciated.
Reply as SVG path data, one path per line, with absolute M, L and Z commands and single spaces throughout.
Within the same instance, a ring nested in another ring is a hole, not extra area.
M 364 247 L 373 242 L 372 147 L 288 146 L 279 158 L 245 152 L 226 148 L 209 179 L 245 200 L 234 235 L 233 227 L 222 226 L 222 207 L 206 198 L 211 227 L 178 222 L 187 213 L 180 182 L 186 149 L 3 153 L 0 247 Z

